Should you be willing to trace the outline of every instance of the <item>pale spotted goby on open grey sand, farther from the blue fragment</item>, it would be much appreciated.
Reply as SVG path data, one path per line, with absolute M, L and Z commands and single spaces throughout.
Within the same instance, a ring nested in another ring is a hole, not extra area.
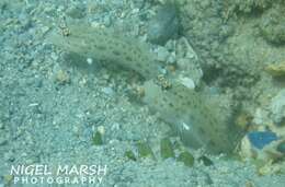
M 138 39 L 87 24 L 68 25 L 67 30 L 68 36 L 54 32 L 47 39 L 67 51 L 135 70 L 146 79 L 158 74 L 159 67 L 153 63 L 150 47 Z

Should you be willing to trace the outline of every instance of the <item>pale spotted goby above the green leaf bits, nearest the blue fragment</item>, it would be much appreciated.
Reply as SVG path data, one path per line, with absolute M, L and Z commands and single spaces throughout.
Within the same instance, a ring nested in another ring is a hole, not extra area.
M 218 106 L 179 82 L 173 82 L 172 87 L 166 91 L 153 81 L 147 81 L 144 101 L 171 124 L 183 143 L 192 148 L 227 153 L 240 139 L 240 130 L 230 126 Z

